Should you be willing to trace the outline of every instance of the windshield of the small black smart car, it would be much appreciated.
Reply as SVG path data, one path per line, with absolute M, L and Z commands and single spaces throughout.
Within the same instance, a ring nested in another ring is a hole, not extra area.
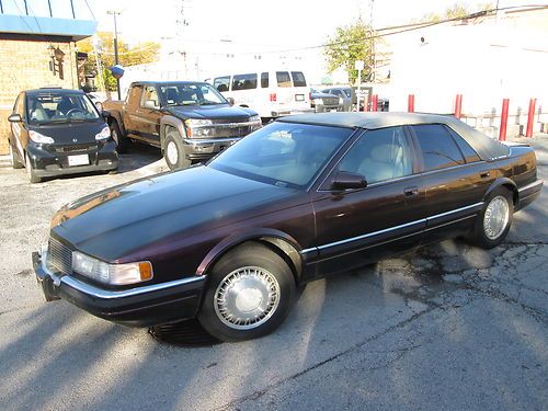
M 45 92 L 26 96 L 30 124 L 96 121 L 99 113 L 83 94 Z

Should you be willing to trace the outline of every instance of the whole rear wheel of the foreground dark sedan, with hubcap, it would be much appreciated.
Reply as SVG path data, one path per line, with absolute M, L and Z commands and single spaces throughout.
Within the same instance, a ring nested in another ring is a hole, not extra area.
M 512 193 L 503 187 L 494 190 L 476 219 L 471 242 L 483 249 L 499 246 L 510 231 L 513 213 Z

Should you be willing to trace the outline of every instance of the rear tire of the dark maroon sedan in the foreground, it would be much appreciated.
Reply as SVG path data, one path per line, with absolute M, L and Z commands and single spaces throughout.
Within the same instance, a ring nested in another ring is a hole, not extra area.
M 498 202 L 503 208 L 507 207 L 507 216 L 503 213 L 504 217 L 501 219 L 501 227 L 498 230 L 491 230 L 486 222 L 486 214 L 489 213 L 488 209 L 490 205 L 494 205 Z M 502 203 L 501 203 L 502 202 Z M 514 199 L 512 193 L 504 187 L 493 190 L 491 194 L 487 197 L 481 213 L 476 218 L 473 230 L 471 235 L 467 238 L 469 242 L 475 246 L 481 247 L 482 249 L 489 250 L 499 246 L 506 238 L 510 226 L 512 225 L 512 216 L 514 214 Z M 504 225 L 502 228 L 502 225 Z

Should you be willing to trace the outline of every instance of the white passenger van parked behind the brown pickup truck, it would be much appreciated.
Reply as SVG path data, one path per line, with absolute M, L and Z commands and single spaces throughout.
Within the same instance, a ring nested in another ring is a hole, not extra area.
M 213 85 L 236 105 L 253 109 L 264 118 L 312 113 L 310 88 L 302 71 L 258 71 L 219 76 Z

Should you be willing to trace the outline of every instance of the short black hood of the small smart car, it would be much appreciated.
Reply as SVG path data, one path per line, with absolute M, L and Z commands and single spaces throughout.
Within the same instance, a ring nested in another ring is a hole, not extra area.
M 30 125 L 28 129 L 52 137 L 56 145 L 78 145 L 96 142 L 95 135 L 106 124 L 103 121 Z

